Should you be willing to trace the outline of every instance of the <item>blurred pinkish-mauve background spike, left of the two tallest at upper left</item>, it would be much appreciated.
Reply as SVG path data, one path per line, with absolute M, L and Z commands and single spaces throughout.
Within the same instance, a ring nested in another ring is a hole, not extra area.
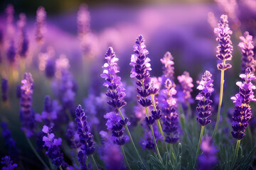
M 46 10 L 40 6 L 36 11 L 36 42 L 42 45 L 44 34 L 46 33 Z

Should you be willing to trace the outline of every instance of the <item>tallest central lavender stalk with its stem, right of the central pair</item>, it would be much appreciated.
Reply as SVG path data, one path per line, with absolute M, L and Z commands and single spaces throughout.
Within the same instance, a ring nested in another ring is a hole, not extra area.
M 149 106 L 151 106 L 152 104 L 154 106 L 154 111 L 156 111 L 156 105 L 154 103 L 154 95 L 157 94 L 158 89 L 155 89 L 149 84 L 150 83 L 149 71 L 151 70 L 151 65 L 149 64 L 150 62 L 149 57 L 146 57 L 146 55 L 149 54 L 149 51 L 146 50 L 146 45 L 144 44 L 144 42 L 145 40 L 143 36 L 139 35 L 139 37 L 135 42 L 136 45 L 134 45 L 134 55 L 132 55 L 131 63 L 130 63 L 130 65 L 133 67 L 131 72 L 131 77 L 132 78 L 135 77 L 137 79 L 136 84 L 138 85 L 138 88 L 136 90 L 139 94 L 138 102 L 145 108 L 146 124 L 149 125 L 151 129 L 152 137 L 156 147 L 156 153 L 158 154 L 159 159 L 162 162 L 159 148 L 157 147 L 154 130 L 152 128 L 152 125 L 154 124 L 154 117 L 149 115 Z M 148 98 L 149 96 L 151 96 L 151 99 Z

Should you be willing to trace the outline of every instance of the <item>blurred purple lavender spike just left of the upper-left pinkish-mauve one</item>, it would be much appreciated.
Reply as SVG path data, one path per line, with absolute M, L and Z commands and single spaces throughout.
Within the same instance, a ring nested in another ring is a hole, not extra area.
M 26 35 L 26 15 L 24 13 L 20 14 L 20 20 L 18 21 L 18 27 L 21 30 L 21 39 L 18 47 L 18 55 L 21 57 L 26 57 L 26 52 L 28 51 L 28 37 Z

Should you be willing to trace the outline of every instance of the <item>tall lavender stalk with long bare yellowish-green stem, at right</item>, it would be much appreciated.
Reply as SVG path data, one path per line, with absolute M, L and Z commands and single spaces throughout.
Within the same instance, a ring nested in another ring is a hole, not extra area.
M 218 114 L 217 114 L 217 120 L 216 120 L 212 137 L 214 137 L 218 129 L 218 123 L 220 120 L 220 108 L 223 101 L 224 72 L 226 69 L 230 69 L 232 67 L 231 64 L 225 63 L 226 61 L 229 61 L 232 59 L 231 52 L 233 51 L 232 42 L 230 40 L 230 35 L 233 32 L 228 27 L 228 16 L 225 16 L 225 15 L 220 16 L 220 23 L 218 23 L 218 28 L 214 29 L 214 33 L 218 34 L 218 38 L 216 38 L 216 40 L 219 42 L 219 45 L 217 47 L 216 57 L 218 58 L 218 60 L 220 60 L 220 63 L 217 64 L 217 68 L 221 71 L 221 74 L 220 74 L 220 99 L 218 103 Z

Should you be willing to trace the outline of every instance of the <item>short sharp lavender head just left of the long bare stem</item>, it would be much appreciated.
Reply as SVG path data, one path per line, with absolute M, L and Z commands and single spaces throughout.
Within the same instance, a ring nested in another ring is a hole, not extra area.
M 196 111 L 198 111 L 198 118 L 196 118 L 196 120 L 198 120 L 198 123 L 202 126 L 208 125 L 211 122 L 211 120 L 208 120 L 211 115 L 210 104 L 213 103 L 213 101 L 210 100 L 210 96 L 214 91 L 211 77 L 212 74 L 206 70 L 197 87 L 201 92 L 196 96 L 196 100 L 199 101 L 198 107 L 196 108 Z

